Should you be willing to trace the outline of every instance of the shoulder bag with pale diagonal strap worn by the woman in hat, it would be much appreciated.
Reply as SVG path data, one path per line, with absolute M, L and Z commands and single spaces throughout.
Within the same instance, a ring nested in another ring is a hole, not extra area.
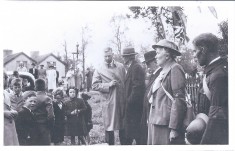
M 175 99 L 172 97 L 172 95 L 163 87 L 162 82 L 161 82 L 161 86 L 164 90 L 164 92 L 166 93 L 166 95 L 170 98 L 170 100 L 172 102 L 175 101 Z M 183 120 L 183 128 L 186 130 L 186 128 L 188 127 L 188 125 L 195 119 L 195 114 L 193 111 L 193 106 L 192 106 L 192 101 L 191 101 L 191 97 L 190 94 L 187 93 L 187 90 L 185 89 L 185 103 L 186 103 L 186 114 Z

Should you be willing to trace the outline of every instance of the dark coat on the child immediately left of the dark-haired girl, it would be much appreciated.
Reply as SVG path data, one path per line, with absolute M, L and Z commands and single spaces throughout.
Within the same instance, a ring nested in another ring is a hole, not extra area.
M 51 141 L 53 143 L 60 143 L 64 141 L 64 131 L 65 131 L 64 103 L 62 103 L 62 108 L 60 108 L 57 102 L 53 102 L 53 109 L 55 114 L 55 123 L 51 133 Z

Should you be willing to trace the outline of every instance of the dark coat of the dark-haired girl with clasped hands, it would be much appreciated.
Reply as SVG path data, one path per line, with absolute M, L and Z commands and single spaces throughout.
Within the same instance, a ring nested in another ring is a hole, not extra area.
M 67 116 L 67 135 L 85 136 L 87 134 L 84 113 L 87 107 L 81 98 L 75 98 L 65 102 L 65 115 Z M 80 110 L 77 115 L 71 115 L 74 110 Z

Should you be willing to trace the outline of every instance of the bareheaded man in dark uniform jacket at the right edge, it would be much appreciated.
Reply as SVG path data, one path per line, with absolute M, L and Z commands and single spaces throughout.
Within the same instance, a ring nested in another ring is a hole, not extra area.
M 228 144 L 228 61 L 219 56 L 219 40 L 211 33 L 193 40 L 195 56 L 205 66 L 203 90 L 210 100 L 209 121 L 201 144 Z

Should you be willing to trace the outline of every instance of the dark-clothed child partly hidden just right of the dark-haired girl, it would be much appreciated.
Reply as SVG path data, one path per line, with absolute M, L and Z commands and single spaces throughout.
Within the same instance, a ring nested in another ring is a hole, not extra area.
M 87 109 L 84 113 L 84 116 L 85 116 L 85 123 L 86 123 L 86 127 L 87 127 L 87 136 L 86 136 L 87 142 L 88 142 L 88 144 L 90 144 L 89 132 L 93 128 L 93 123 L 92 123 L 92 108 L 91 108 L 90 104 L 88 103 L 88 100 L 91 98 L 91 96 L 86 93 L 82 93 L 81 97 L 87 106 Z

